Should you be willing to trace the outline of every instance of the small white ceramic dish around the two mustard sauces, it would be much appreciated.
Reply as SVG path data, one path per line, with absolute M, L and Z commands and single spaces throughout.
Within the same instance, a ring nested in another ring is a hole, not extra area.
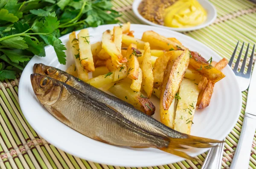
M 212 5 L 212 3 L 210 3 L 208 0 L 198 0 L 198 2 L 201 4 L 201 6 L 203 6 L 204 9 L 207 11 L 207 20 L 200 25 L 189 27 L 189 28 L 171 28 L 171 27 L 167 27 L 167 26 L 163 26 L 163 25 L 158 25 L 156 23 L 152 23 L 151 21 L 146 20 L 144 17 L 142 17 L 138 11 L 138 7 L 139 7 L 141 1 L 142 0 L 134 0 L 134 2 L 132 4 L 132 10 L 134 11 L 134 14 L 143 23 L 148 24 L 148 25 L 158 26 L 160 28 L 171 29 L 173 31 L 185 32 L 185 31 L 193 31 L 193 30 L 201 29 L 201 28 L 204 28 L 204 27 L 210 25 L 211 23 L 213 23 L 217 17 L 216 8 L 215 8 L 215 6 Z

